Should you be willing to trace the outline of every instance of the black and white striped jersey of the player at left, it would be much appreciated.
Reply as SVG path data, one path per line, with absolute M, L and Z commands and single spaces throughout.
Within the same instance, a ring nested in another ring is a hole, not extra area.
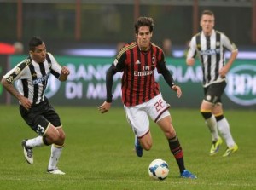
M 56 78 L 61 75 L 61 66 L 54 56 L 47 53 L 44 63 L 37 63 L 31 57 L 18 63 L 13 69 L 3 76 L 8 83 L 16 81 L 16 89 L 21 95 L 28 98 L 32 104 L 44 101 L 49 74 Z

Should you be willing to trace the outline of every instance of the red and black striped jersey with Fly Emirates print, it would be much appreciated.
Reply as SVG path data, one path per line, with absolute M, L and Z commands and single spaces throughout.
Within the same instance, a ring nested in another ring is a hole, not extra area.
M 142 51 L 137 43 L 128 43 L 113 61 L 118 72 L 123 72 L 122 101 L 127 107 L 149 101 L 160 94 L 160 86 L 154 79 L 155 68 L 160 72 L 165 63 L 162 49 L 151 43 L 148 51 Z

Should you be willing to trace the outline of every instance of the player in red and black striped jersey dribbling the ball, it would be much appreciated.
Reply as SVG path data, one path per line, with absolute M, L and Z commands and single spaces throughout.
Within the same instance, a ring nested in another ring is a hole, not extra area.
M 170 150 L 177 160 L 181 177 L 196 178 L 185 169 L 183 150 L 172 125 L 166 103 L 160 93 L 160 86 L 154 79 L 157 70 L 165 78 L 170 89 L 182 95 L 179 86 L 175 85 L 169 70 L 166 68 L 165 55 L 158 46 L 151 43 L 154 21 L 149 17 L 140 17 L 135 24 L 137 41 L 127 43 L 119 51 L 106 76 L 107 100 L 98 107 L 99 111 L 108 112 L 112 102 L 113 75 L 123 72 L 122 101 L 128 123 L 135 134 L 135 149 L 138 157 L 143 156 L 143 149 L 150 150 L 152 137 L 148 117 L 160 126 L 166 135 Z

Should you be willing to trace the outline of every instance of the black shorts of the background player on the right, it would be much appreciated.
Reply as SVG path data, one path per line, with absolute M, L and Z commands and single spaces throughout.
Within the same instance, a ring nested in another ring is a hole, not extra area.
M 225 81 L 221 83 L 212 83 L 211 85 L 204 88 L 204 100 L 209 101 L 212 104 L 221 103 L 221 96 L 224 93 L 224 89 L 227 83 Z

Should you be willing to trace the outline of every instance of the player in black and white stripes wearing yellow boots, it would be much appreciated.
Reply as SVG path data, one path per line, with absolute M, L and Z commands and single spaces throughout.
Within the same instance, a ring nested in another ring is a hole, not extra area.
M 222 139 L 218 135 L 218 130 L 227 144 L 224 157 L 230 156 L 238 150 L 234 141 L 230 124 L 224 117 L 224 111 L 221 96 L 226 86 L 226 74 L 230 66 L 236 60 L 238 49 L 235 43 L 224 35 L 223 32 L 214 30 L 214 14 L 210 10 L 205 10 L 201 14 L 202 31 L 192 37 L 187 54 L 187 65 L 195 64 L 195 56 L 198 55 L 201 60 L 204 88 L 204 99 L 201 102 L 201 114 L 206 120 L 206 124 L 212 134 L 212 147 L 210 155 L 218 153 L 222 144 Z M 225 50 L 231 52 L 230 59 L 225 62 Z

